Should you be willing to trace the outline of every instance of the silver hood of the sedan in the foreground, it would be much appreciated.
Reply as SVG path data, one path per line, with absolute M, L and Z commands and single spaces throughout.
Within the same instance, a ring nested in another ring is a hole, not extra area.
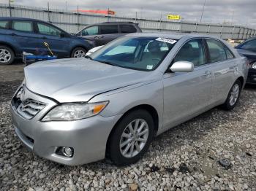
M 152 81 L 151 72 L 86 58 L 42 61 L 25 67 L 24 73 L 29 90 L 59 102 L 89 101 L 100 93 Z

